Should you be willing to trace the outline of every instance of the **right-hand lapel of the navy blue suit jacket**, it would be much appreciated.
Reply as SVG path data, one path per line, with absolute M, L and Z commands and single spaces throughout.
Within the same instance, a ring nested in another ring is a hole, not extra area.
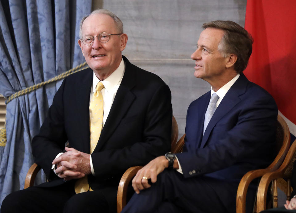
M 218 108 L 216 109 L 215 113 L 213 114 L 213 117 L 211 118 L 206 128 L 206 131 L 204 132 L 204 136 L 200 145 L 201 148 L 203 148 L 206 145 L 210 133 L 212 132 L 212 129 L 214 128 L 216 123 L 220 121 L 222 117 L 224 117 L 236 104 L 238 104 L 241 101 L 239 96 L 246 92 L 247 83 L 248 79 L 245 77 L 244 74 L 241 74 L 241 76 L 228 90 L 228 92 L 220 102 Z

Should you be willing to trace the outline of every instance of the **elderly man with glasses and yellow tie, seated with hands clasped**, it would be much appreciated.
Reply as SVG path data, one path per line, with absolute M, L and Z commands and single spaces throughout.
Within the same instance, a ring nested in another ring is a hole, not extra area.
M 8 195 L 1 212 L 115 212 L 125 170 L 170 150 L 170 89 L 121 55 L 121 20 L 93 11 L 78 43 L 89 68 L 63 81 L 32 141 L 49 182 Z

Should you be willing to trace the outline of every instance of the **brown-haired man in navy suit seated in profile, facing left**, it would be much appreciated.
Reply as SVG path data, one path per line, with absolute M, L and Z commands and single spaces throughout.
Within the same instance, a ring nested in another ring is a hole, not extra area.
M 203 28 L 191 59 L 194 76 L 212 89 L 188 108 L 183 152 L 139 170 L 132 181 L 136 194 L 122 212 L 235 212 L 242 176 L 274 158 L 277 105 L 242 73 L 251 36 L 232 21 Z

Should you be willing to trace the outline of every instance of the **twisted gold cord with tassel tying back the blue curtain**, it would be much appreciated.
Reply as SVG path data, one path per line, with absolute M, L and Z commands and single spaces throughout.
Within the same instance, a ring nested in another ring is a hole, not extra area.
M 52 82 L 55 82 L 55 81 L 58 81 L 58 80 L 61 80 L 61 79 L 64 79 L 65 77 L 75 73 L 75 72 L 79 72 L 83 69 L 86 69 L 88 68 L 88 66 L 86 65 L 86 62 L 84 63 L 81 63 L 79 64 L 77 67 L 75 68 L 72 68 L 66 72 L 63 72 L 62 74 L 58 75 L 58 76 L 55 76 L 47 81 L 43 81 L 39 84 L 36 84 L 36 85 L 33 85 L 31 87 L 27 87 L 23 90 L 20 90 L 19 92 L 15 92 L 14 94 L 12 94 L 11 96 L 8 97 L 8 99 L 6 100 L 6 105 L 11 101 L 13 100 L 14 98 L 17 98 L 19 96 L 22 96 L 22 95 L 25 95 L 29 92 L 32 92 L 40 87 L 43 87 L 44 85 L 46 84 L 50 84 Z M 5 119 L 6 120 L 6 119 Z M 5 121 L 5 125 L 4 125 L 4 128 L 0 129 L 0 146 L 5 146 L 6 145 L 6 121 Z

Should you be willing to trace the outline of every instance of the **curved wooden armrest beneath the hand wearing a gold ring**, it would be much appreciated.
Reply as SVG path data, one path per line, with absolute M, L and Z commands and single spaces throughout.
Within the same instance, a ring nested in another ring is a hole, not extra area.
M 117 190 L 117 212 L 121 212 L 122 209 L 126 205 L 126 194 L 127 194 L 127 187 L 131 179 L 137 174 L 137 172 L 142 169 L 143 166 L 133 166 L 128 168 L 125 173 L 122 175 L 118 190 Z

